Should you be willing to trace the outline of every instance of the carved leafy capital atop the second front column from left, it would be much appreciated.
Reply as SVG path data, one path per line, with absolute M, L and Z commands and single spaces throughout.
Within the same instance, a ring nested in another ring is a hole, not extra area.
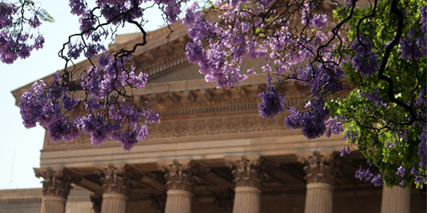
M 119 193 L 128 195 L 130 187 L 134 184 L 134 180 L 141 179 L 142 175 L 133 173 L 126 168 L 126 165 L 110 164 L 107 168 L 95 168 L 98 175 L 101 176 L 102 190 L 104 193 Z

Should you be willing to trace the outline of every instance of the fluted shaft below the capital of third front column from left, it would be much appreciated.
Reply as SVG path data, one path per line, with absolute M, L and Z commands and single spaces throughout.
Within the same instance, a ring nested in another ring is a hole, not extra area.
M 190 213 L 193 193 L 186 190 L 167 190 L 164 213 Z

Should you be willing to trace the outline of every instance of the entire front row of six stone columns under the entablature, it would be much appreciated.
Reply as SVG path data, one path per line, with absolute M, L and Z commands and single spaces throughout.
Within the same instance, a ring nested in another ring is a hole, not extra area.
M 307 193 L 305 197 L 305 213 L 332 213 L 334 178 L 337 169 L 334 167 L 332 153 L 313 153 L 299 156 L 298 160 L 305 164 Z M 259 213 L 261 208 L 262 182 L 267 177 L 263 163 L 259 157 L 241 160 L 226 160 L 226 165 L 233 168 L 234 199 L 233 213 Z M 95 168 L 101 176 L 102 195 L 92 194 L 92 213 L 125 213 L 128 195 L 135 180 L 142 174 L 132 173 L 125 165 L 109 165 L 107 168 Z M 191 161 L 159 164 L 167 179 L 167 200 L 165 213 L 190 213 L 194 185 L 198 175 L 206 170 L 195 168 Z M 66 168 L 53 170 L 36 170 L 36 176 L 44 178 L 41 213 L 64 213 L 65 204 L 72 182 L 79 177 Z M 384 186 L 381 213 L 409 213 L 410 188 Z

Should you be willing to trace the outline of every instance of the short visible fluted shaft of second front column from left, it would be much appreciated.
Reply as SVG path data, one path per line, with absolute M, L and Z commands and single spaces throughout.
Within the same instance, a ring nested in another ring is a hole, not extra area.
M 125 213 L 127 197 L 119 193 L 103 193 L 101 213 Z

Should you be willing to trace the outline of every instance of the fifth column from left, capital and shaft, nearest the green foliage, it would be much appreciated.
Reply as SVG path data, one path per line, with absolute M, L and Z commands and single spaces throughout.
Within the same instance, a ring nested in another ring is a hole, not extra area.
M 305 179 L 307 180 L 307 194 L 305 195 L 305 213 L 332 213 L 334 195 L 334 168 L 333 154 L 320 155 L 314 152 L 311 156 L 300 156 L 301 163 L 305 163 Z

